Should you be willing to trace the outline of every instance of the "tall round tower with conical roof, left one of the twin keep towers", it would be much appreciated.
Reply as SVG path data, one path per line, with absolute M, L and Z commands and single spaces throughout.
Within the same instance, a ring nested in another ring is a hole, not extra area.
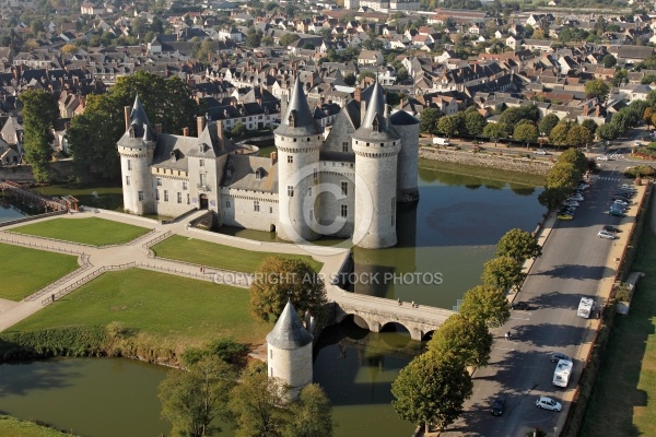
M 278 149 L 278 236 L 290 241 L 318 238 L 316 217 L 321 129 L 315 123 L 296 76 L 292 95 L 273 131 Z

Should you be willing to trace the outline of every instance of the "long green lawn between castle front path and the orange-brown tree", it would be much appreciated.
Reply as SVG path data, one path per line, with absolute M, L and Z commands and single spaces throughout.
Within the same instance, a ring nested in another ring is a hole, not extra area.
M 166 238 L 164 241 L 153 246 L 152 249 L 157 257 L 246 273 L 254 272 L 265 258 L 278 255 L 273 252 L 256 252 L 238 249 L 200 239 L 181 237 L 179 235 L 173 235 L 171 238 Z M 323 263 L 315 261 L 311 256 L 284 255 L 284 257 L 306 261 L 317 272 L 321 270 Z

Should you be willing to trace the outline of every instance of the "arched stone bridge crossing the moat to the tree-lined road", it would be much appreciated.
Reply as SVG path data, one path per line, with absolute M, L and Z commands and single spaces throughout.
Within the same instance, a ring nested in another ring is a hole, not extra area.
M 389 323 L 399 323 L 410 332 L 412 340 L 421 341 L 454 314 L 448 309 L 423 305 L 412 306 L 409 302 L 399 305 L 397 300 L 348 293 L 336 285 L 327 288 L 331 288 L 328 293 L 329 298 L 337 304 L 335 308 L 336 323 L 348 316 L 355 316 L 355 321 L 366 322 L 366 327 L 372 332 L 380 332 Z

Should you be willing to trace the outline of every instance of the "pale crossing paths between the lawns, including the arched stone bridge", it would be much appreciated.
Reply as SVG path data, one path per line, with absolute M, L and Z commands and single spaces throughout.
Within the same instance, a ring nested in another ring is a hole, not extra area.
M 79 263 L 81 265 L 80 269 L 59 279 L 45 288 L 42 288 L 20 303 L 0 299 L 0 332 L 108 270 L 139 267 L 202 281 L 213 281 L 215 283 L 248 287 L 250 276 L 245 273 L 215 269 L 200 263 L 173 261 L 153 257 L 149 248 L 172 234 L 250 251 L 311 255 L 314 259 L 324 263 L 320 271 L 324 279 L 330 279 L 331 275 L 341 271 L 344 261 L 349 257 L 348 249 L 254 241 L 188 226 L 189 222 L 200 217 L 202 214 L 207 213 L 206 211 L 198 211 L 184 220 L 167 224 L 162 224 L 151 218 L 121 214 L 113 211 L 93 211 L 95 212 L 86 209 L 84 212 L 74 213 L 65 217 L 67 220 L 79 220 L 90 216 L 99 216 L 106 220 L 147 227 L 151 231 L 144 236 L 128 244 L 105 247 L 95 247 L 11 233 L 12 228 L 21 226 L 22 224 L 10 225 L 0 231 L 0 243 L 34 247 L 56 252 L 74 253 L 80 257 Z M 52 220 L 52 217 L 37 218 L 34 222 L 46 220 Z M 330 284 L 328 280 L 326 280 L 326 288 L 328 300 L 336 302 L 344 308 L 358 308 L 359 315 L 367 320 L 372 331 L 379 330 L 387 322 L 399 322 L 405 324 L 408 330 L 411 331 L 413 338 L 421 338 L 421 335 L 425 334 L 427 328 L 437 328 L 453 314 L 452 311 L 442 308 L 399 305 L 396 300 L 348 293 L 338 286 Z M 55 296 L 54 299 L 52 296 Z M 353 314 L 349 309 L 347 309 L 347 312 Z M 417 332 L 413 332 L 412 327 L 421 327 L 421 332 L 417 331 L 417 329 L 414 329 Z

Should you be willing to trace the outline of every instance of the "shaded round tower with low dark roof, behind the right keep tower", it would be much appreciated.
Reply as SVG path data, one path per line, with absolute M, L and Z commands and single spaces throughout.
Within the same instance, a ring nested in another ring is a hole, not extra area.
M 398 161 L 397 201 L 417 202 L 419 200 L 419 189 L 417 188 L 419 120 L 405 110 L 398 110 L 389 117 L 389 121 L 403 139 Z

